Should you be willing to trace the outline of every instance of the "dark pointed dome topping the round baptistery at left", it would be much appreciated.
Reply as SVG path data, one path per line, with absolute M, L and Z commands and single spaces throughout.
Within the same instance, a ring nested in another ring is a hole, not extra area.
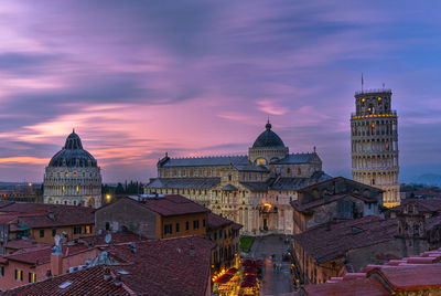
M 82 139 L 74 130 L 68 135 L 63 149 L 51 159 L 49 167 L 97 167 L 97 161 L 83 149 Z

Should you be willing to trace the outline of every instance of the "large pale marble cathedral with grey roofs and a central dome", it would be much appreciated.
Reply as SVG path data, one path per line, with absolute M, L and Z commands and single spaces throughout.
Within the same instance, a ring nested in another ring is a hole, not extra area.
M 214 213 L 244 225 L 252 235 L 292 234 L 290 204 L 297 191 L 331 178 L 314 151 L 290 154 L 266 125 L 248 156 L 170 158 L 158 161 L 158 178 L 146 186 L 149 194 L 181 194 Z

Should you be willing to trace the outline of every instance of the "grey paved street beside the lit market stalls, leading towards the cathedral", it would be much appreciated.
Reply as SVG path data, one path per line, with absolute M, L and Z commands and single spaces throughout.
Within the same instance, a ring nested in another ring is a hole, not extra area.
M 293 290 L 290 262 L 283 262 L 289 244 L 284 235 L 269 235 L 256 237 L 249 255 L 255 260 L 263 261 L 263 279 L 261 295 L 277 295 Z M 275 268 L 275 264 L 280 266 Z

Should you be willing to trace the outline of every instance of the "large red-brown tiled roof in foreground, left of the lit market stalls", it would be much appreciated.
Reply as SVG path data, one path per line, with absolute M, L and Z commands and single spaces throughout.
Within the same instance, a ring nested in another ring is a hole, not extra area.
M 213 247 L 198 236 L 112 244 L 101 250 L 125 263 L 89 267 L 1 295 L 205 295 Z M 105 268 L 111 272 L 108 281 Z M 67 281 L 71 284 L 62 288 Z

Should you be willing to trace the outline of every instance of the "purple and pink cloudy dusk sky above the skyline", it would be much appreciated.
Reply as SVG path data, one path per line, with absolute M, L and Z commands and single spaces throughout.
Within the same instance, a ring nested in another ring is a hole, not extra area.
M 440 173 L 440 6 L 2 1 L 0 180 L 42 181 L 75 127 L 105 181 L 146 181 L 165 151 L 246 154 L 268 116 L 349 176 L 362 72 L 392 88 L 401 180 Z

